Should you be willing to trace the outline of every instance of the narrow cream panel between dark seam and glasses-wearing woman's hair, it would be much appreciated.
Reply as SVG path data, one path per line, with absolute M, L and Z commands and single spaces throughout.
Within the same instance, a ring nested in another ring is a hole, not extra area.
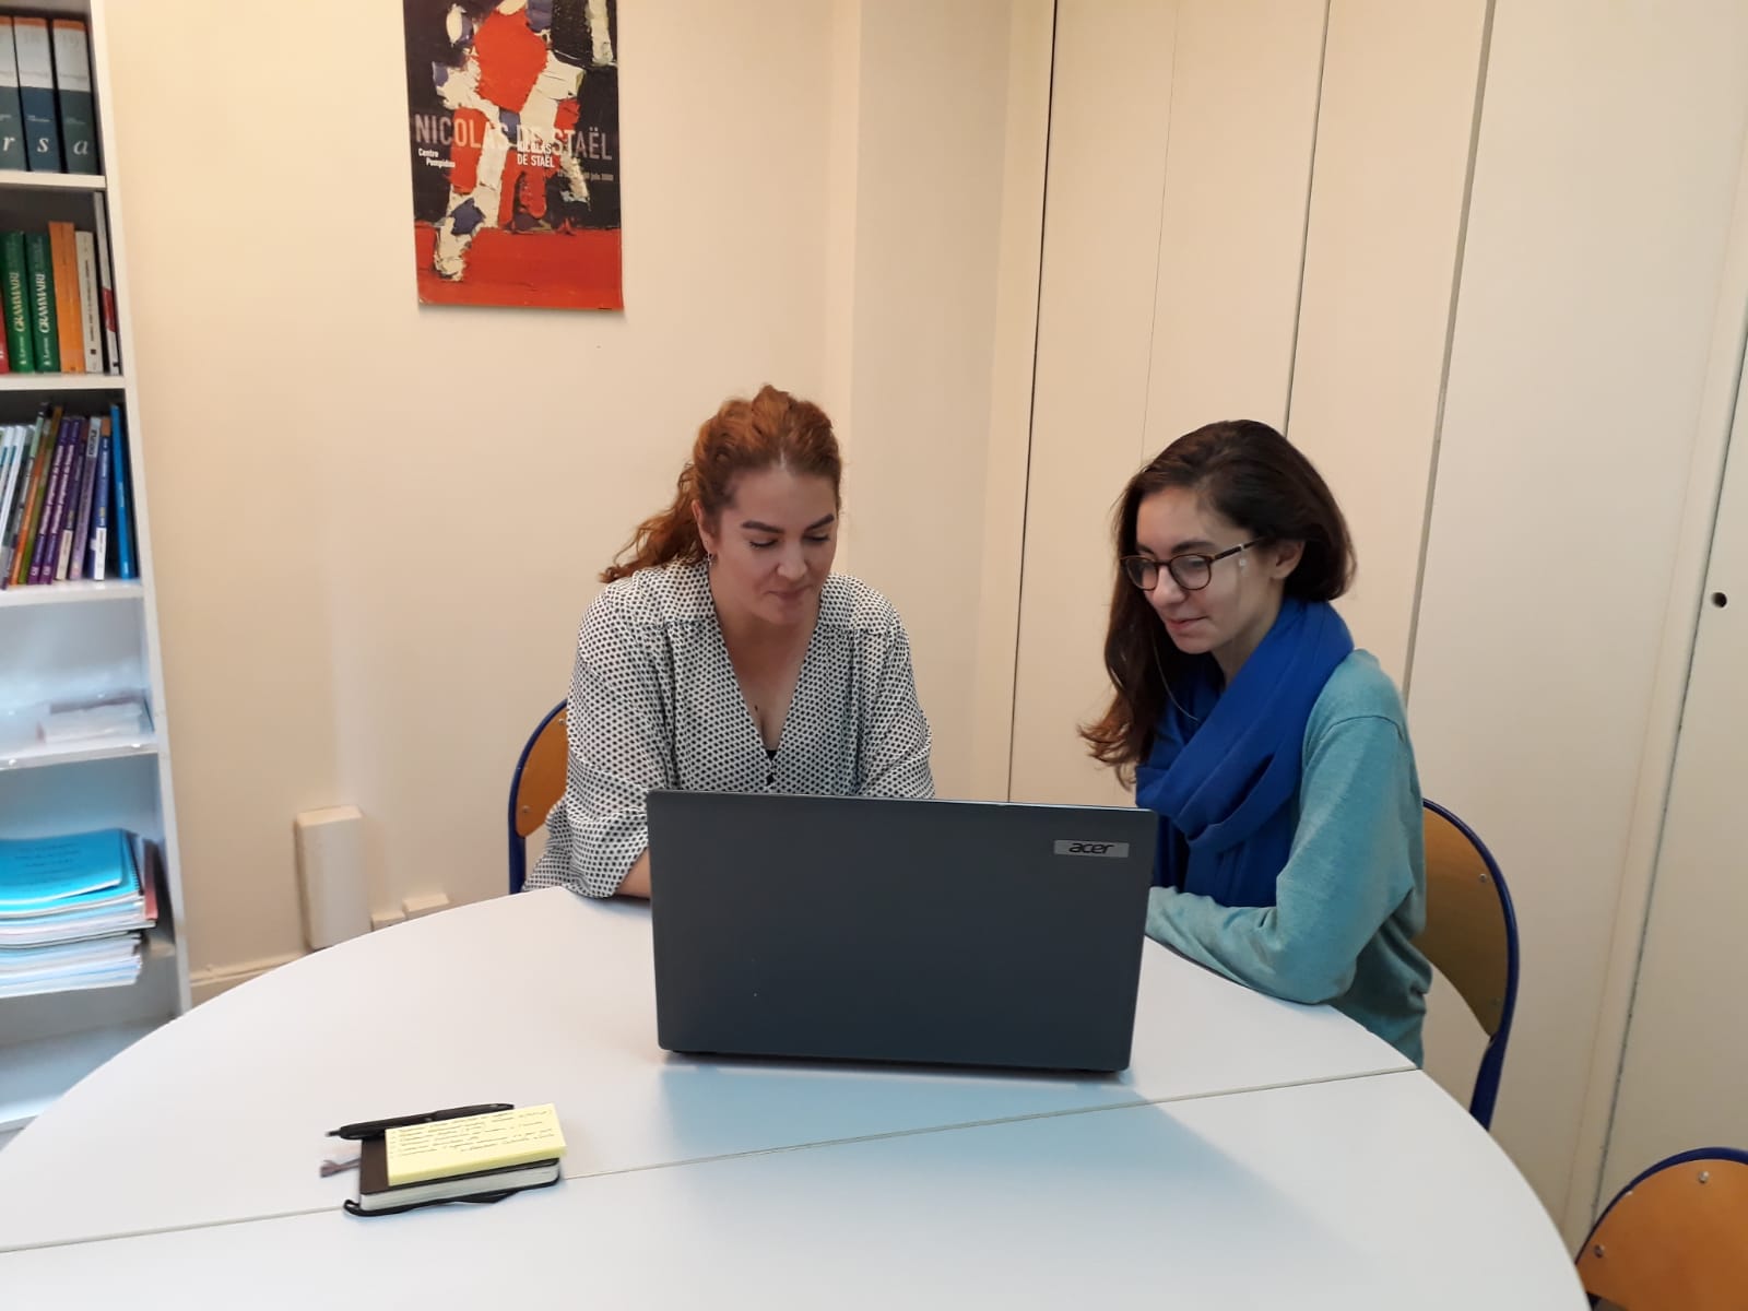
M 1108 514 L 1147 409 L 1175 21 L 1059 0 L 1014 687 L 1016 801 L 1122 802 L 1075 727 L 1103 696 Z

